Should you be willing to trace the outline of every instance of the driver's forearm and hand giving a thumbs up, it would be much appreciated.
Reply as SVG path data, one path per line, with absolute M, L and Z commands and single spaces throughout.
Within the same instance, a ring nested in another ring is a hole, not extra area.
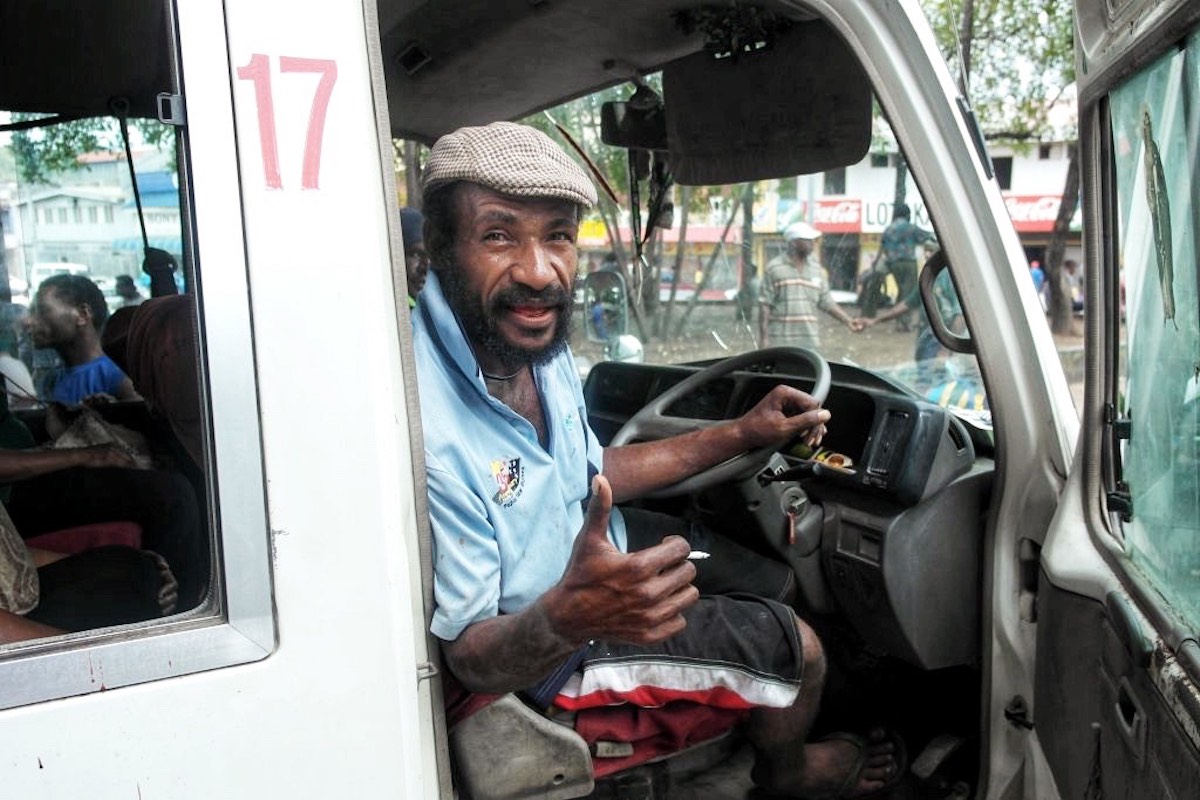
M 590 639 L 650 644 L 684 628 L 683 612 L 700 597 L 688 542 L 625 554 L 608 541 L 612 489 L 593 481 L 583 529 L 562 579 L 532 606 L 469 625 L 443 642 L 446 662 L 473 692 L 511 692 L 533 686 Z

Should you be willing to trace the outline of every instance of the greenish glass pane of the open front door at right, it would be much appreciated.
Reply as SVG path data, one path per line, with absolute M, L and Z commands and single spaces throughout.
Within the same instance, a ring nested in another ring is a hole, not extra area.
M 1132 564 L 1200 622 L 1200 37 L 1111 95 L 1126 344 L 1117 408 Z M 1124 487 L 1117 487 L 1124 488 Z

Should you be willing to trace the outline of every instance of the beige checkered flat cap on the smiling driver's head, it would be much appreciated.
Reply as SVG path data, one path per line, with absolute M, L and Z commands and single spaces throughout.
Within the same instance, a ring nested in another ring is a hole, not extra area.
M 458 128 L 433 144 L 421 185 L 426 192 L 470 181 L 512 197 L 551 197 L 590 207 L 596 190 L 553 139 L 526 125 L 492 122 Z

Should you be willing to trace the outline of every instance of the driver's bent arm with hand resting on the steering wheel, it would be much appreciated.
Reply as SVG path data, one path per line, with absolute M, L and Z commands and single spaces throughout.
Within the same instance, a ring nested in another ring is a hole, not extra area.
M 817 445 L 829 411 L 792 386 L 775 386 L 758 404 L 736 420 L 670 439 L 605 447 L 605 475 L 616 503 L 678 483 L 727 458 L 803 435 Z

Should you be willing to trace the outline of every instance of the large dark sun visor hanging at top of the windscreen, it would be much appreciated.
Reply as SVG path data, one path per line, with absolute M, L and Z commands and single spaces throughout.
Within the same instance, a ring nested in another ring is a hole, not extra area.
M 671 172 L 684 186 L 820 173 L 858 163 L 871 143 L 870 82 L 820 22 L 737 59 L 673 61 L 662 95 Z

